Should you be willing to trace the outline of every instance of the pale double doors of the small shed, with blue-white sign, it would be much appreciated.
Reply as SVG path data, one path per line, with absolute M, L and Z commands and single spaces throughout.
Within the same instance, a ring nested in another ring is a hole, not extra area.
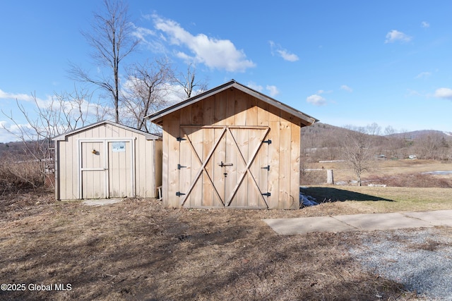
M 131 141 L 81 141 L 81 198 L 133 197 Z

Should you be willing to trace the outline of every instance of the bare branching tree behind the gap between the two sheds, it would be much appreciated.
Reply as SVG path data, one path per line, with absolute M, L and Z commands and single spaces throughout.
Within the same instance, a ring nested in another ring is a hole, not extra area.
M 165 97 L 174 78 L 167 59 L 133 64 L 128 69 L 129 82 L 124 93 L 124 113 L 131 126 L 149 132 L 145 116 L 167 106 Z

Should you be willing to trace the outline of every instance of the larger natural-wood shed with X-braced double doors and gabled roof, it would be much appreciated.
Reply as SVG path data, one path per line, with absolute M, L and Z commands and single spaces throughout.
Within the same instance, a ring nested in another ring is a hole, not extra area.
M 316 118 L 234 80 L 147 118 L 164 207 L 299 208 L 300 129 Z

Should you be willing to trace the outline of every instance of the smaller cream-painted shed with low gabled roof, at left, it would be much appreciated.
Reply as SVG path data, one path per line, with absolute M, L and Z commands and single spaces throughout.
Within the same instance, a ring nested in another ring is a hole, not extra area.
M 101 121 L 53 140 L 56 199 L 157 197 L 161 137 Z

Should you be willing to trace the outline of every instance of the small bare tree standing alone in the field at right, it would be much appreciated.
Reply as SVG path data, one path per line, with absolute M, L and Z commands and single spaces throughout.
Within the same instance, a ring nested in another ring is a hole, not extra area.
M 343 159 L 352 167 L 357 176 L 357 183 L 362 185 L 362 173 L 369 170 L 374 160 L 371 136 L 366 128 L 349 128 L 343 139 Z

